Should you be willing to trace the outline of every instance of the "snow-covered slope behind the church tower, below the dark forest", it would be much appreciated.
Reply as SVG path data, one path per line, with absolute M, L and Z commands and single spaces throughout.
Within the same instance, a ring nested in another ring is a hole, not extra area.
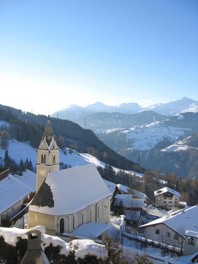
M 77 166 L 83 166 L 83 165 L 88 165 L 91 163 L 94 163 L 96 167 L 99 165 L 101 167 L 104 167 L 106 163 L 101 162 L 97 158 L 93 157 L 91 154 L 87 153 L 79 153 L 74 150 L 73 153 L 69 153 L 69 149 L 65 148 L 67 155 L 65 155 L 61 150 L 59 152 L 59 162 L 64 163 L 67 165 L 71 165 L 72 167 L 77 167 Z M 4 158 L 4 153 L 5 150 L 0 148 L 0 163 L 3 162 Z M 11 156 L 11 158 L 15 159 L 17 163 L 22 160 L 25 161 L 26 158 L 31 159 L 33 167 L 36 165 L 36 149 L 32 148 L 28 142 L 18 142 L 18 141 L 11 141 L 9 144 L 9 149 L 8 153 Z M 118 168 L 113 167 L 116 172 L 119 171 Z M 132 174 L 134 173 L 133 171 L 128 171 L 131 172 Z M 142 177 L 143 174 L 136 172 L 136 175 Z

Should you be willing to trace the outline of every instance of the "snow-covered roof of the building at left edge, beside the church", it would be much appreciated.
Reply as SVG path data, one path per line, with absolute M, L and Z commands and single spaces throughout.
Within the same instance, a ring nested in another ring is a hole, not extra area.
M 23 176 L 9 175 L 0 181 L 0 213 L 35 191 L 36 175 L 27 170 Z

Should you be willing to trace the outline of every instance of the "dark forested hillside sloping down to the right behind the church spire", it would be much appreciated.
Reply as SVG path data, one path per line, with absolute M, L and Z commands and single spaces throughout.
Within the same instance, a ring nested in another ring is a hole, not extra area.
M 37 148 L 42 138 L 47 117 L 25 113 L 19 109 L 0 105 L 0 120 L 8 121 L 7 128 L 10 138 L 21 142 L 29 141 Z M 127 160 L 106 146 L 89 129 L 83 129 L 72 121 L 50 118 L 53 132 L 61 148 L 68 146 L 77 151 L 90 152 L 94 157 L 112 166 L 124 170 L 134 170 L 143 173 L 145 169 L 137 163 Z M 4 128 L 1 128 L 1 130 Z

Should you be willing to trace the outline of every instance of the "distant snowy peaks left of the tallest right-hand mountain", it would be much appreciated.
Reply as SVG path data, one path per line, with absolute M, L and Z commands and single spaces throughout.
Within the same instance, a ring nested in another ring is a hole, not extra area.
M 89 114 L 106 112 L 106 113 L 123 113 L 123 114 L 133 114 L 138 113 L 138 111 L 144 108 L 139 106 L 137 103 L 122 103 L 116 106 L 109 106 L 101 102 L 96 102 L 94 104 L 89 104 L 85 107 L 77 106 L 71 104 L 70 106 L 63 108 L 58 111 L 58 117 L 60 119 L 68 119 L 74 121 L 77 118 L 85 117 Z M 51 116 L 57 117 L 57 112 L 53 113 Z

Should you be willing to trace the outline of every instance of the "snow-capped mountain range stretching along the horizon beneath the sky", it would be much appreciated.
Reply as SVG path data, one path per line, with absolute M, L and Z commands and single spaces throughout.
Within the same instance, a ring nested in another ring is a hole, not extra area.
M 122 103 L 116 106 L 109 106 L 101 102 L 96 102 L 85 107 L 71 104 L 66 108 L 58 110 L 51 116 L 74 121 L 81 117 L 87 117 L 90 114 L 99 112 L 135 114 L 147 110 L 151 110 L 158 114 L 163 114 L 167 116 L 173 116 L 184 112 L 198 112 L 198 101 L 183 97 L 182 99 L 176 101 L 171 101 L 169 103 L 153 104 L 146 108 L 141 107 L 137 103 Z

